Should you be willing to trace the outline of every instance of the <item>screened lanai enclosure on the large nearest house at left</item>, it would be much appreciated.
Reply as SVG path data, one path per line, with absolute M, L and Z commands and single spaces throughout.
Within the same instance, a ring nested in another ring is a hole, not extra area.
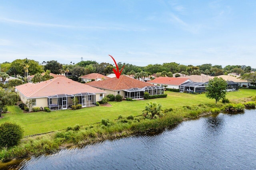
M 48 97 L 48 107 L 50 110 L 68 109 L 73 105 L 72 99 L 78 98 L 78 104 L 82 107 L 96 106 L 96 94 L 92 93 L 78 93 L 70 94 L 56 94 Z

